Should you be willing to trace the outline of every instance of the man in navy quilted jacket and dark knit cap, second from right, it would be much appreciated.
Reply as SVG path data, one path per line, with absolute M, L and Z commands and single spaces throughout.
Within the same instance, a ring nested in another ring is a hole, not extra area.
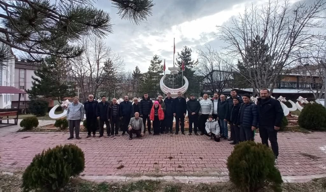
M 250 100 L 249 94 L 244 94 L 244 103 L 239 111 L 238 124 L 240 125 L 240 141 L 253 140 L 254 130 L 258 123 L 257 105 Z

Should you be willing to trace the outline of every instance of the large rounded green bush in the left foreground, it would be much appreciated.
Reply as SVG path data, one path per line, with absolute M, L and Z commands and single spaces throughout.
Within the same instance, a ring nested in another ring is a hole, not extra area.
M 35 155 L 22 175 L 22 187 L 24 191 L 60 191 L 84 168 L 85 157 L 79 147 L 58 145 Z

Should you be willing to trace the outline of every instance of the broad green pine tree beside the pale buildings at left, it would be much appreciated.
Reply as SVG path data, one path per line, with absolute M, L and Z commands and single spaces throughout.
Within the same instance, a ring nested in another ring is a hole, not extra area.
M 33 86 L 27 90 L 29 98 L 55 98 L 61 103 L 64 97 L 74 96 L 74 84 L 67 81 L 67 66 L 67 61 L 61 58 L 47 57 L 34 71 Z

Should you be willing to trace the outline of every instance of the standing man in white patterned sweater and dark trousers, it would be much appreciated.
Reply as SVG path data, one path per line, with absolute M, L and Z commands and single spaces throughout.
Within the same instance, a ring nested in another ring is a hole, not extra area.
M 208 95 L 204 94 L 203 99 L 199 101 L 200 104 L 200 119 L 199 119 L 199 127 L 200 127 L 200 135 L 205 134 L 205 123 L 208 119 L 209 115 L 213 114 L 214 105 L 211 100 L 208 99 Z

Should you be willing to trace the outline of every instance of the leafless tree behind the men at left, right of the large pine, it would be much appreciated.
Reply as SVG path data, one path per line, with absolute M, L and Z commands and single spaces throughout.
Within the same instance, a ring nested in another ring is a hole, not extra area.
M 103 87 L 114 86 L 112 75 L 119 73 L 116 69 L 123 68 L 123 59 L 113 52 L 100 38 L 85 39 L 85 52 L 77 59 L 71 60 L 71 75 L 81 89 L 82 99 L 93 94 L 99 98 L 103 94 Z M 114 77 L 117 78 L 117 77 Z M 104 83 L 106 82 L 106 83 Z M 103 85 L 106 86 L 103 86 Z

